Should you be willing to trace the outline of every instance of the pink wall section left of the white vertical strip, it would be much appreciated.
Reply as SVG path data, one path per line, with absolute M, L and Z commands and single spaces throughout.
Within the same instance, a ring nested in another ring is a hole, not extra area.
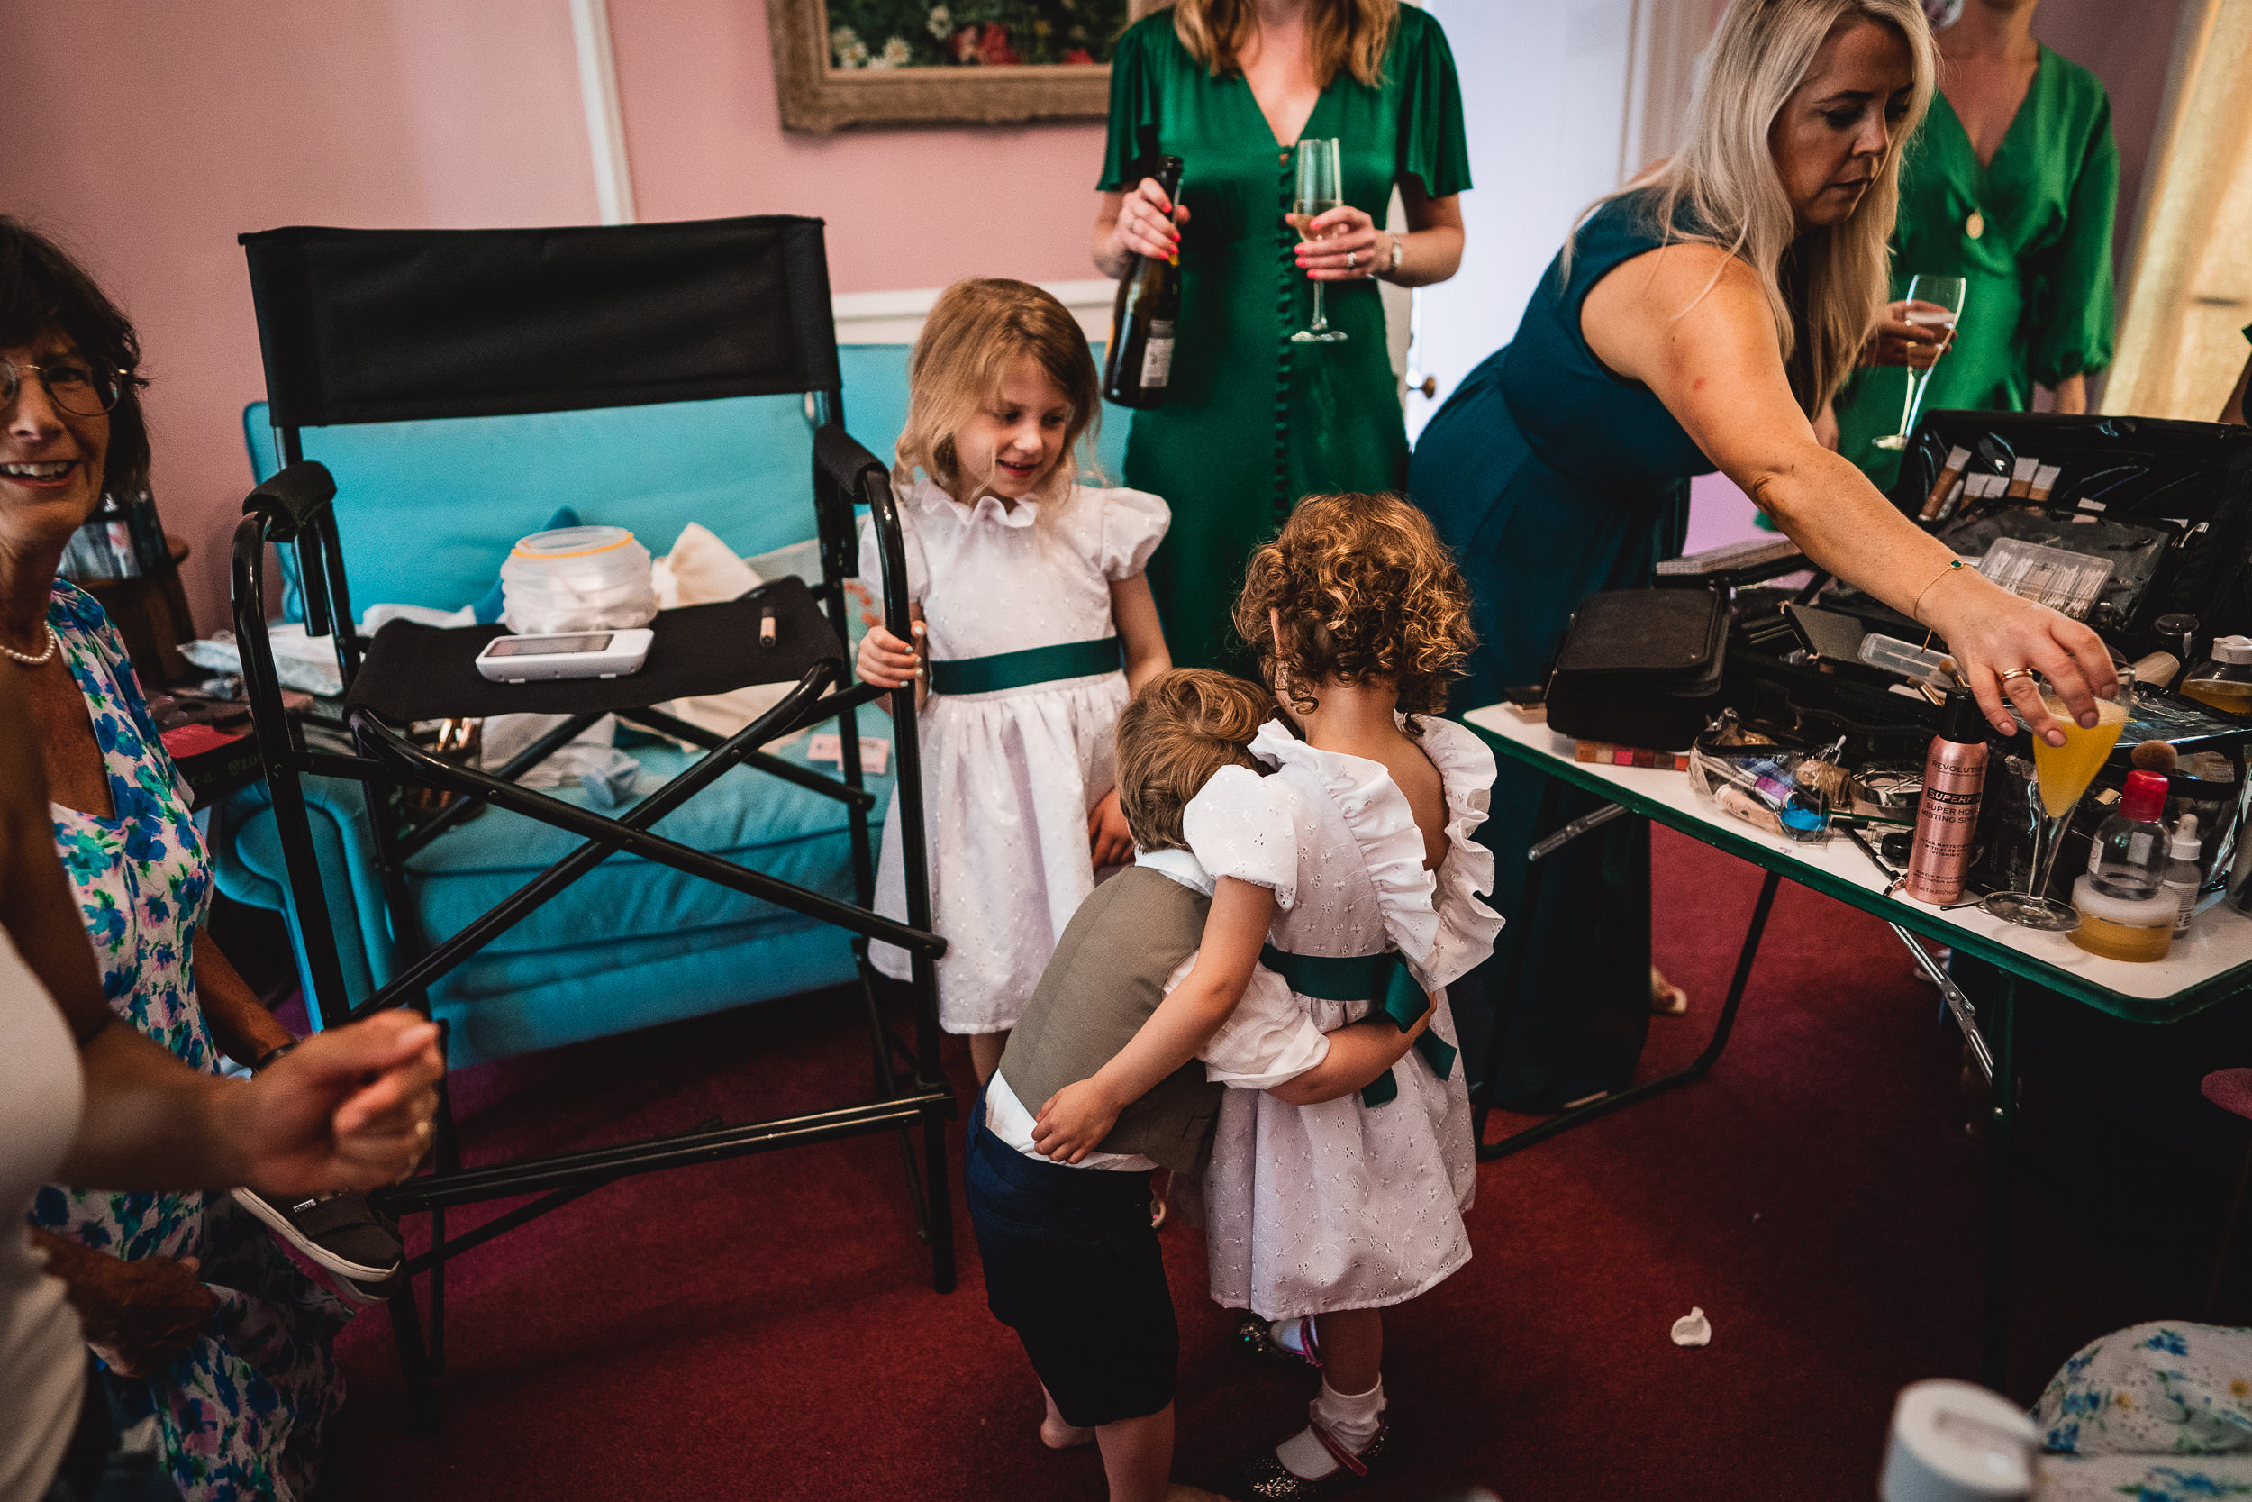
M 61 236 L 140 324 L 155 495 L 196 624 L 225 624 L 266 392 L 241 230 L 595 214 L 558 0 L 72 0 L 11 7 L 0 207 Z

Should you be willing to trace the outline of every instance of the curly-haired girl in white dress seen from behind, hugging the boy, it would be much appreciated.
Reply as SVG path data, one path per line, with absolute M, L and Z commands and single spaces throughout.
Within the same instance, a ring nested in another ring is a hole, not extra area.
M 1252 554 L 1236 631 L 1302 734 L 1270 721 L 1182 820 L 1216 878 L 1275 894 L 1268 964 L 1322 1031 L 1383 1004 L 1367 964 L 1394 950 L 1435 1013 L 1380 1090 L 1293 1106 L 1230 1090 L 1205 1178 L 1212 1297 L 1250 1306 L 1252 1344 L 1320 1360 L 1313 1423 L 1252 1459 L 1250 1495 L 1324 1497 L 1383 1446 L 1383 1308 L 1471 1259 L 1471 1101 L 1448 982 L 1493 953 L 1480 901 L 1493 856 L 1493 752 L 1437 718 L 1471 649 L 1468 590 L 1421 511 L 1394 495 L 1308 495 Z M 1378 962 L 1380 964 L 1380 962 Z M 1340 1000 L 1342 998 L 1342 1000 Z M 1403 1027 L 1421 1011 L 1394 1007 Z M 1378 1101 L 1378 1103 L 1371 1103 Z M 1272 1322 L 1272 1324 L 1266 1324 Z

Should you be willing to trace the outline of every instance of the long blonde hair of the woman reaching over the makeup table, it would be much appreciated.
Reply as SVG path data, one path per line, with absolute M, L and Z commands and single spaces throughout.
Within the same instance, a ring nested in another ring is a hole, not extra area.
M 1822 43 L 1856 18 L 1887 25 L 1907 43 L 1914 70 L 1907 115 L 1892 128 L 1876 180 L 1853 212 L 1799 234 L 1768 135 Z M 1730 0 L 1698 70 L 1687 142 L 1648 180 L 1599 198 L 1590 214 L 1608 198 L 1655 189 L 1648 214 L 1669 243 L 1718 245 L 1748 263 L 1768 293 L 1790 394 L 1813 417 L 1853 372 L 1869 320 L 1885 302 L 1901 149 L 1923 122 L 1934 77 L 1932 32 L 1919 0 Z M 1675 230 L 1680 205 L 1689 205 L 1698 230 Z

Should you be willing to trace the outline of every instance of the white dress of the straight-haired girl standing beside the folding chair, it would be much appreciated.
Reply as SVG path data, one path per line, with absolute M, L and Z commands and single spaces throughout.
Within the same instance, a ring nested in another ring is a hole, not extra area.
M 901 495 L 908 597 L 923 608 L 932 662 L 993 658 L 1117 635 L 1110 583 L 1133 579 L 1164 540 L 1171 511 L 1146 491 L 1072 486 L 1061 502 L 964 507 L 930 480 Z M 860 576 L 878 581 L 874 522 Z M 1088 813 L 1115 784 L 1110 739 L 1126 673 L 932 694 L 917 716 L 939 1025 L 950 1034 L 1016 1027 L 1047 957 L 1094 889 Z M 876 912 L 908 917 L 899 802 L 883 824 Z M 896 980 L 908 953 L 872 944 Z

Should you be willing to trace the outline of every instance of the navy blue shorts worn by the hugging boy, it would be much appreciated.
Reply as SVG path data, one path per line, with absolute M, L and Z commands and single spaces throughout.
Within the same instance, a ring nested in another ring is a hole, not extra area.
M 971 1112 L 962 1193 L 986 1308 L 1016 1331 L 1065 1423 L 1094 1428 L 1173 1401 L 1180 1326 L 1149 1225 L 1149 1173 L 1027 1157 Z

